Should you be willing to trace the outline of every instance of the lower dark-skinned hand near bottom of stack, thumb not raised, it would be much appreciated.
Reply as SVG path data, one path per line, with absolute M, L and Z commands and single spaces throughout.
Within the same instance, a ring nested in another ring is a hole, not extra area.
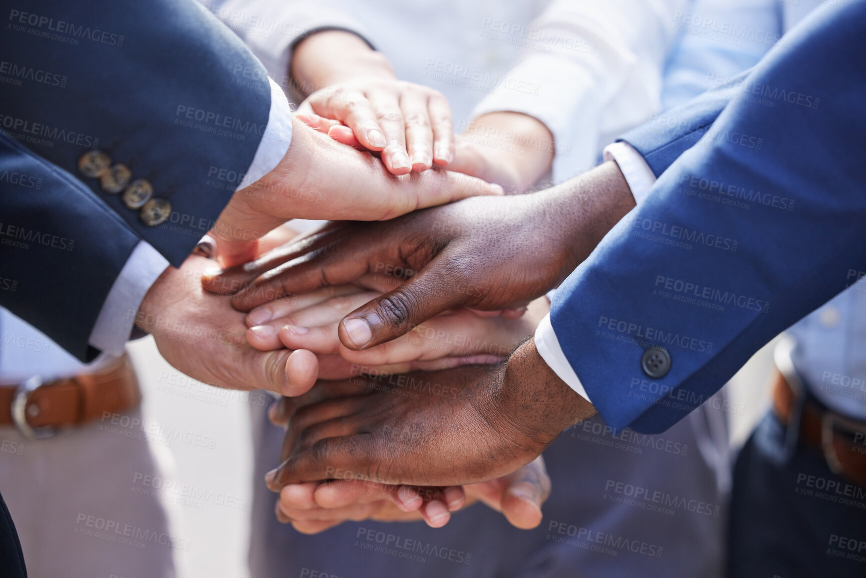
M 288 431 L 271 490 L 326 479 L 447 487 L 506 476 L 595 408 L 533 341 L 506 364 L 321 381 L 284 398 Z

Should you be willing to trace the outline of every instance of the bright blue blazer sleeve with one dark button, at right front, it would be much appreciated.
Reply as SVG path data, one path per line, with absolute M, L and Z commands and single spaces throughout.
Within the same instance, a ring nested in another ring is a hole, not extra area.
M 866 267 L 864 34 L 866 0 L 814 11 L 557 291 L 553 328 L 606 423 L 667 429 Z

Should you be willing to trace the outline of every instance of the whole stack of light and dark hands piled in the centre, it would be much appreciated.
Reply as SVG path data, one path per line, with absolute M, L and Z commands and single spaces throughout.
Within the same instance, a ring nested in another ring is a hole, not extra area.
M 285 396 L 270 411 L 287 433 L 267 483 L 296 529 L 439 527 L 479 500 L 533 528 L 550 492 L 541 451 L 595 410 L 530 338 L 546 292 L 633 200 L 612 163 L 504 195 L 550 159 L 455 140 L 442 94 L 370 68 L 309 94 L 280 166 L 211 231 L 221 268 L 194 255 L 166 270 L 137 325 L 185 373 Z M 333 222 L 295 236 L 291 218 Z M 185 338 L 200 328 L 208 339 Z

